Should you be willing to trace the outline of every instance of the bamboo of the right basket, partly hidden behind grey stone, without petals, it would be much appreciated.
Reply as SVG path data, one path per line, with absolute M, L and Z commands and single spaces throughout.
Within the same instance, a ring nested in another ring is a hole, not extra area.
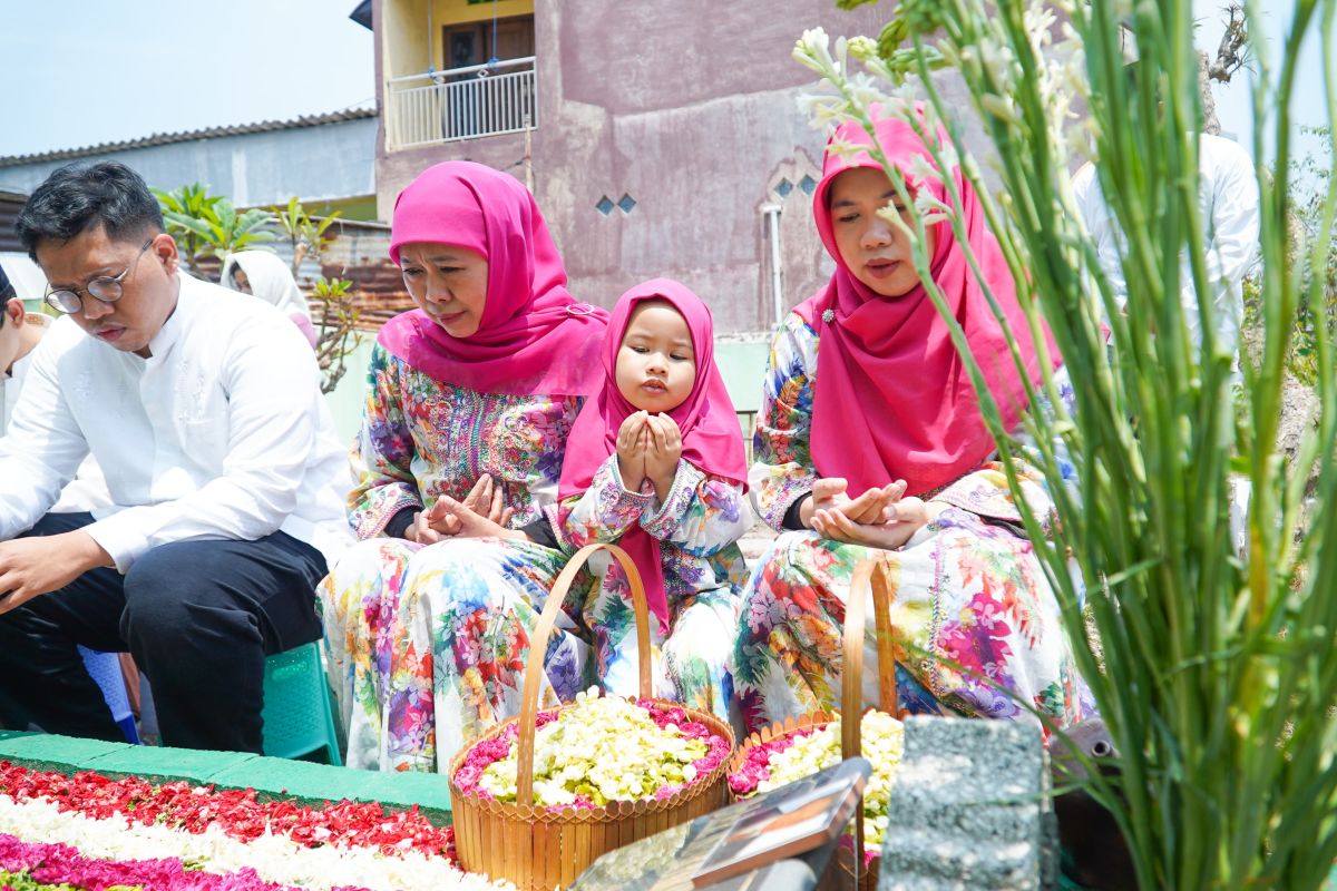
M 858 757 L 861 755 L 865 594 L 869 588 L 872 588 L 873 593 L 873 620 L 877 628 L 877 708 L 894 717 L 904 717 L 896 699 L 896 661 L 892 655 L 890 582 L 888 580 L 886 564 L 876 558 L 864 560 L 854 566 L 854 574 L 850 578 L 849 598 L 845 602 L 840 712 L 817 711 L 800 717 L 787 717 L 781 723 L 763 727 L 738 745 L 738 751 L 734 752 L 734 757 L 729 763 L 730 773 L 741 769 L 746 763 L 747 749 L 782 739 L 797 731 L 822 727 L 840 719 L 841 715 L 852 716 L 850 720 L 841 720 L 841 757 Z M 864 850 L 862 796 L 854 808 L 854 847 L 837 844 L 836 854 L 833 855 L 836 868 L 826 870 L 817 884 L 817 891 L 837 891 L 841 887 L 854 887 L 860 891 L 874 891 L 877 888 L 877 872 L 881 858 L 873 858 L 869 868 L 864 870 L 864 858 L 854 855 L 856 851 L 862 852 Z M 833 875 L 836 876 L 834 879 L 832 878 Z

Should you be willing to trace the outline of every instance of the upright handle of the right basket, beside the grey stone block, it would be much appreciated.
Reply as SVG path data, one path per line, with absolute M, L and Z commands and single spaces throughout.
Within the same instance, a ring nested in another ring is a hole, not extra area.
M 892 655 L 890 570 L 877 558 L 854 566 L 845 601 L 845 663 L 841 669 L 841 756 L 858 757 L 864 713 L 864 613 L 866 592 L 873 589 L 873 621 L 877 627 L 878 708 L 896 715 L 896 657 Z

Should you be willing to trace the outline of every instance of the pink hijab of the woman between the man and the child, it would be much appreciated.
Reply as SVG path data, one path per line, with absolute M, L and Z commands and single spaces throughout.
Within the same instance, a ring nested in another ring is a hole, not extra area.
M 453 338 L 421 310 L 390 319 L 381 346 L 443 383 L 477 393 L 588 395 L 608 314 L 567 293 L 567 273 L 533 196 L 513 176 L 452 160 L 425 170 L 394 202 L 390 259 L 414 242 L 488 260 L 479 330 Z

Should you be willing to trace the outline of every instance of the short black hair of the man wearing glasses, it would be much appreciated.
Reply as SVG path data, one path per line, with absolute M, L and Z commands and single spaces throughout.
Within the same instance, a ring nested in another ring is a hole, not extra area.
M 98 224 L 112 240 L 163 231 L 158 199 L 139 174 L 120 162 L 57 167 L 19 211 L 15 230 L 28 256 L 37 259 L 43 240 L 64 243 Z

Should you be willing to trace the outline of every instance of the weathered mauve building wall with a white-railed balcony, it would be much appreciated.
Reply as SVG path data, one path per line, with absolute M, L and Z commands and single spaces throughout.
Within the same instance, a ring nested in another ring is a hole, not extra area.
M 833 0 L 373 0 L 378 214 L 431 164 L 525 180 L 576 297 L 681 279 L 725 335 L 762 337 L 830 274 L 812 218 L 825 135 L 800 112 L 806 28 Z M 496 64 L 489 64 L 496 59 Z M 778 258 L 778 263 L 773 258 Z

